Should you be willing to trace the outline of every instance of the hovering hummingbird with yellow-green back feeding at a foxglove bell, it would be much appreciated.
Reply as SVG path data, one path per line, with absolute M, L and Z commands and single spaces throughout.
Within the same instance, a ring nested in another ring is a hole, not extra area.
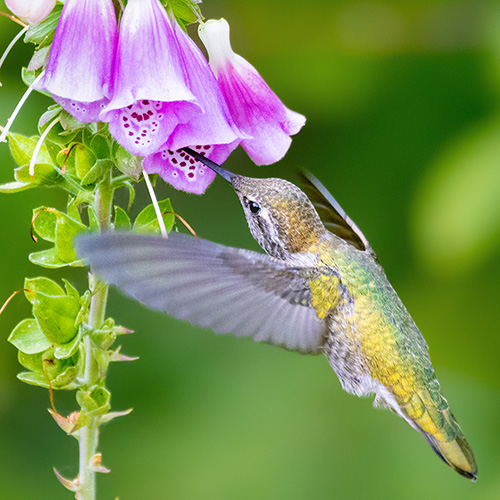
M 342 388 L 373 394 L 473 481 L 473 452 L 441 393 L 427 344 L 367 239 L 326 188 L 244 177 L 184 151 L 233 187 L 265 254 L 193 236 L 87 234 L 77 253 L 149 308 L 303 354 L 323 353 Z

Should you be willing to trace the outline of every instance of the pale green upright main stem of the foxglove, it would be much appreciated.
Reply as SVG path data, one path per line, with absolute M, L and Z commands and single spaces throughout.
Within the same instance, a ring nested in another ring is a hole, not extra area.
M 109 228 L 111 219 L 111 207 L 113 204 L 113 188 L 111 187 L 111 173 L 99 185 L 95 195 L 95 210 L 97 212 L 101 231 Z M 100 281 L 95 276 L 90 276 L 90 285 L 93 291 L 90 303 L 89 324 L 92 330 L 99 328 L 106 314 L 106 302 L 108 299 L 108 285 Z M 91 331 L 92 331 L 91 330 Z M 95 356 L 97 347 L 93 344 L 90 333 L 85 337 L 85 372 L 82 381 L 82 388 L 90 390 L 99 377 L 98 364 Z M 81 500 L 95 500 L 95 470 L 93 459 L 97 453 L 97 443 L 99 440 L 99 417 L 89 415 L 87 425 L 80 429 L 80 496 Z

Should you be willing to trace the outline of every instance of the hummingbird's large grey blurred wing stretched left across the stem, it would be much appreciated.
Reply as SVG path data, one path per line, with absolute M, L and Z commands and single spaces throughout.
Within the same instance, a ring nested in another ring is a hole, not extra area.
M 307 307 L 302 268 L 180 233 L 82 235 L 78 255 L 147 307 L 216 333 L 320 353 L 325 324 Z

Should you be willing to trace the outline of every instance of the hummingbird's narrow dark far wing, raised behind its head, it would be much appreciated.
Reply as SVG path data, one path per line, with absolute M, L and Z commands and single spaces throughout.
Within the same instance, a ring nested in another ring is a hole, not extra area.
M 333 234 L 358 250 L 365 250 L 376 257 L 368 240 L 359 227 L 342 210 L 335 198 L 310 172 L 300 171 L 301 187 L 318 212 L 321 222 Z

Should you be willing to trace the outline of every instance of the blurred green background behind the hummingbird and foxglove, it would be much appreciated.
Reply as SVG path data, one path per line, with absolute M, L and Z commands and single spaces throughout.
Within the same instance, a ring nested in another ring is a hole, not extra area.
M 2 5 L 3 7 L 3 5 Z M 311 170 L 365 232 L 429 346 L 445 395 L 476 453 L 479 481 L 446 467 L 425 441 L 371 400 L 346 394 L 323 357 L 215 336 L 150 312 L 113 290 L 109 314 L 136 331 L 134 363 L 111 366 L 102 428 L 111 474 L 99 498 L 500 498 L 500 8 L 477 0 L 206 0 L 234 49 L 307 116 L 279 164 L 242 152 L 227 168 L 294 179 Z M 5 9 L 3 9 L 5 10 Z M 0 18 L 2 49 L 18 26 Z M 0 73 L 0 123 L 24 92 L 19 44 Z M 36 133 L 49 104 L 34 95 L 14 130 Z M 13 160 L 0 146 L 0 182 Z M 238 201 L 216 180 L 205 196 L 157 188 L 204 238 L 256 248 Z M 125 200 L 125 196 L 123 196 Z M 0 302 L 45 271 L 30 264 L 31 210 L 64 207 L 57 191 L 0 196 Z M 135 210 L 144 206 L 144 191 Z M 80 290 L 83 270 L 71 271 Z M 0 317 L 0 498 L 65 499 L 52 473 L 77 472 L 77 442 L 16 379 L 6 339 L 28 317 L 16 297 Z M 57 393 L 62 414 L 74 395 Z

